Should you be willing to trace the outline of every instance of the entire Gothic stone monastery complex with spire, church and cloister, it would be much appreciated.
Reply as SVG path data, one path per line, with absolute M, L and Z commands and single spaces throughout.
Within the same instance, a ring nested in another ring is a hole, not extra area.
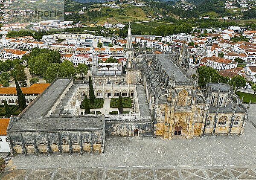
M 93 55 L 92 73 L 96 98 L 132 99 L 127 114 L 85 115 L 80 108 L 89 96 L 89 84 L 70 78 L 57 78 L 19 116 L 12 116 L 7 136 L 12 154 L 40 154 L 105 151 L 105 138 L 111 136 L 162 137 L 166 141 L 194 136 L 242 135 L 248 107 L 228 84 L 209 82 L 198 87 L 187 70 L 189 53 L 157 54 L 140 45 L 135 51 L 128 29 L 125 67 L 118 63 L 98 63 Z M 109 101 L 110 102 L 110 101 Z M 134 138 L 135 138 L 134 137 Z

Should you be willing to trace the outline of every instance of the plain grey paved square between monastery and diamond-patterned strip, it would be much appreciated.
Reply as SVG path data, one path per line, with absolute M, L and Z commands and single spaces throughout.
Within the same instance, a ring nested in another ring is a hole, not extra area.
M 251 105 L 249 119 L 256 124 L 256 104 Z M 166 141 L 160 137 L 144 137 L 134 140 L 129 137 L 106 139 L 103 154 L 74 153 L 16 155 L 6 167 L 11 169 L 99 168 L 132 166 L 217 166 L 255 165 L 256 128 L 247 122 L 243 136 L 203 136 L 194 139 Z

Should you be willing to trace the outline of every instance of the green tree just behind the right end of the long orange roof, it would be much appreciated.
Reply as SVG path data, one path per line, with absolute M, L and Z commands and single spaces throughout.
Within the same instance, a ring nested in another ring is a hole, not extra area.
M 49 67 L 47 67 L 46 72 L 44 73 L 44 80 L 46 83 L 52 83 L 52 81 L 57 78 L 57 76 L 60 73 L 60 64 L 50 64 Z

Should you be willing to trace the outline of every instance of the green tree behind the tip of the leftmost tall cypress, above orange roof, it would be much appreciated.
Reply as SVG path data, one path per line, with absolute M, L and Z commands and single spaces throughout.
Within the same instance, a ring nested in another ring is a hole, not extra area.
M 12 70 L 12 76 L 16 78 L 16 80 L 20 83 L 21 87 L 26 87 L 26 73 L 25 67 L 21 64 L 16 64 L 14 69 Z

